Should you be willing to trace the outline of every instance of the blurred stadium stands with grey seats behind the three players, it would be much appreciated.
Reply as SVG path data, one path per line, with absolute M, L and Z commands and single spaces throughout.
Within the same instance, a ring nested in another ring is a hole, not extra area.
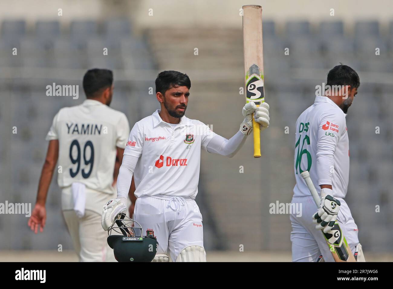
M 272 125 L 262 134 L 260 159 L 252 157 L 251 140 L 232 159 L 202 153 L 196 201 L 208 261 L 291 260 L 289 216 L 269 214 L 269 204 L 292 198 L 294 123 L 313 103 L 316 85 L 339 62 L 353 67 L 361 82 L 347 116 L 347 202 L 366 260 L 393 261 L 393 4 L 387 0 L 1 0 L 0 202 L 31 202 L 33 208 L 44 138 L 61 107 L 85 99 L 82 78 L 89 68 L 114 71 L 111 107 L 125 112 L 130 127 L 159 107 L 149 94 L 158 72 L 187 73 L 192 84 L 187 116 L 231 137 L 244 105 L 239 9 L 246 4 L 263 7 Z M 12 55 L 13 48 L 18 55 Z M 79 99 L 46 96 L 46 85 L 53 82 L 80 85 Z M 224 121 L 228 114 L 233 117 Z M 24 215 L 0 215 L 0 261 L 77 260 L 60 212 L 56 174 L 42 234 L 29 230 Z M 63 254 L 57 252 L 59 244 Z

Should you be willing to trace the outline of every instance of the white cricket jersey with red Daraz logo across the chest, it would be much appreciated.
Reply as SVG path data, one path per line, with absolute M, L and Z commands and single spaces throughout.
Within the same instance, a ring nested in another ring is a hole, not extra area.
M 216 136 L 207 125 L 183 116 L 173 125 L 156 110 L 131 130 L 124 155 L 139 158 L 134 170 L 135 196 L 191 197 L 198 193 L 200 151 Z

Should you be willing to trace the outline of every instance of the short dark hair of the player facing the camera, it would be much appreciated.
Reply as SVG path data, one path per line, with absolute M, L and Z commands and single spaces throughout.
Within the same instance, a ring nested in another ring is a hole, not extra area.
M 191 88 L 191 81 L 187 74 L 167 70 L 160 72 L 156 78 L 156 93 L 161 92 L 165 95 L 165 91 L 167 91 L 171 87 L 179 87 L 185 86 L 188 89 Z

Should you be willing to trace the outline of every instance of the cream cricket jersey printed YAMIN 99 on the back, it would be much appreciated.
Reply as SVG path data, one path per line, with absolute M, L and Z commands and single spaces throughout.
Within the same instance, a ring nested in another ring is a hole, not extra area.
M 96 100 L 59 110 L 46 136 L 46 140 L 59 140 L 59 187 L 81 182 L 87 188 L 114 193 L 116 147 L 125 147 L 129 131 L 123 112 Z

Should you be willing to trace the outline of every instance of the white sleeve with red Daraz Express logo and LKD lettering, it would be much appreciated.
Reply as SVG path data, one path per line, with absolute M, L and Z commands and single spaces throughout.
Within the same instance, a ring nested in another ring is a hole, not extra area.
M 329 130 L 328 130 L 329 129 Z M 316 171 L 318 185 L 332 185 L 334 153 L 341 134 L 345 130 L 345 117 L 331 109 L 323 112 L 318 119 L 316 147 Z

